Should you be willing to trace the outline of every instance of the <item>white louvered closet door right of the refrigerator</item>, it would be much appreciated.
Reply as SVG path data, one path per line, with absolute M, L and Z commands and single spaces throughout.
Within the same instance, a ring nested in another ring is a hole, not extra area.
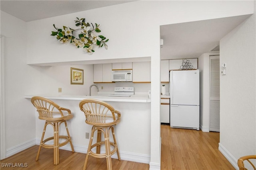
M 220 56 L 210 56 L 210 131 L 220 131 Z

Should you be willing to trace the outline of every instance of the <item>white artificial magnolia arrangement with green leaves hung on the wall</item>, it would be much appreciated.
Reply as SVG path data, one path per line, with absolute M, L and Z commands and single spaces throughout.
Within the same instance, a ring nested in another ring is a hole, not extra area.
M 98 47 L 104 47 L 108 49 L 108 45 L 106 45 L 106 42 L 108 42 L 108 39 L 104 37 L 103 35 L 95 35 L 93 32 L 101 32 L 98 28 L 100 25 L 95 23 L 94 25 L 91 23 L 85 23 L 85 18 L 77 18 L 75 20 L 76 26 L 80 26 L 81 28 L 78 29 L 72 29 L 70 27 L 63 26 L 63 29 L 59 29 L 53 24 L 54 28 L 57 31 L 52 31 L 52 36 L 56 36 L 57 40 L 60 41 L 60 43 L 68 44 L 72 43 L 73 45 L 76 45 L 77 48 L 83 47 L 84 51 L 88 54 L 92 54 L 94 52 L 93 45 L 97 45 Z M 91 27 L 92 26 L 92 27 Z M 79 37 L 74 37 L 75 31 L 81 31 L 81 33 L 78 35 Z

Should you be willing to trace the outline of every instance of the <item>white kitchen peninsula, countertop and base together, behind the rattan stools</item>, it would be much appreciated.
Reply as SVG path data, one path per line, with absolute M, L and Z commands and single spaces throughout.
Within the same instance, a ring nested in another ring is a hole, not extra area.
M 24 96 L 30 100 L 35 95 Z M 121 160 L 134 162 L 150 162 L 150 98 L 148 95 L 132 95 L 131 97 L 111 97 L 108 94 L 98 94 L 96 96 L 72 96 L 72 95 L 40 95 L 56 102 L 59 106 L 68 108 L 74 117 L 68 120 L 68 129 L 72 138 L 75 152 L 86 153 L 89 139 L 86 133 L 91 133 L 92 126 L 85 123 L 85 116 L 79 108 L 79 102 L 85 98 L 95 98 L 108 102 L 116 110 L 121 112 L 121 122 L 116 125 L 115 134 L 118 143 Z M 35 110 L 37 117 L 37 112 Z M 36 119 L 36 145 L 40 143 L 40 135 L 44 127 L 44 121 Z M 47 131 L 46 131 L 47 132 Z M 46 136 L 52 134 L 47 133 Z M 65 135 L 64 126 L 60 128 L 60 135 Z M 90 134 L 91 135 L 91 134 Z M 110 135 L 110 141 L 113 141 Z M 94 138 L 96 140 L 96 138 Z M 102 147 L 102 152 L 104 152 Z M 70 150 L 66 145 L 60 149 Z M 117 158 L 117 155 L 112 155 Z

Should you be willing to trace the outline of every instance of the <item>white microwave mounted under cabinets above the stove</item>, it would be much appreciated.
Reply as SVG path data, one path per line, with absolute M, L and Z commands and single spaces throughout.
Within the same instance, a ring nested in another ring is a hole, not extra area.
M 132 82 L 132 70 L 113 70 L 112 82 Z

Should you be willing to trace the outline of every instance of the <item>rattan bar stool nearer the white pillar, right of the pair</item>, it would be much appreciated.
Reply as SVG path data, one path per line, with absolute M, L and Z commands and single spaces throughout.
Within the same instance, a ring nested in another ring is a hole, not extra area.
M 89 155 L 95 158 L 106 158 L 107 169 L 112 170 L 111 155 L 116 152 L 118 160 L 121 160 L 113 127 L 113 125 L 120 122 L 121 113 L 115 110 L 110 104 L 96 99 L 84 99 L 80 102 L 79 107 L 86 117 L 85 122 L 88 125 L 92 125 L 91 138 L 84 162 L 84 170 L 86 169 Z M 114 143 L 109 140 L 110 130 L 112 131 Z M 97 143 L 92 145 L 95 131 L 97 131 Z M 101 141 L 102 133 L 104 134 L 104 141 Z M 101 145 L 105 145 L 106 153 L 100 153 Z M 114 147 L 114 149 L 111 150 L 110 145 Z M 94 147 L 96 147 L 96 153 L 92 152 Z

